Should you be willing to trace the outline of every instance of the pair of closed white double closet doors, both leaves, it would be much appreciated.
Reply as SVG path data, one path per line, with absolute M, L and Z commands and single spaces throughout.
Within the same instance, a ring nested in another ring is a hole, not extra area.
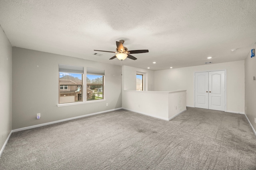
M 225 71 L 195 73 L 195 107 L 225 111 Z

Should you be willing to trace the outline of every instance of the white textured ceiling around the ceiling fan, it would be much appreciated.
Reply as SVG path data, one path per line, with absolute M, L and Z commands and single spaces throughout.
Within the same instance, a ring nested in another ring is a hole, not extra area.
M 0 25 L 12 46 L 117 65 L 118 59 L 109 60 L 114 53 L 93 50 L 115 51 L 115 41 L 124 39 L 128 50 L 149 53 L 123 65 L 164 70 L 244 60 L 256 42 L 256 3 L 0 0 Z

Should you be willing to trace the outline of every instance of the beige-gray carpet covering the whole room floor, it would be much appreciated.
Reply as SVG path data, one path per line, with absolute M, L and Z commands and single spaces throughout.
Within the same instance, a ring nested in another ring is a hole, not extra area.
M 0 170 L 76 169 L 256 170 L 256 136 L 242 114 L 120 109 L 12 133 L 0 158 Z

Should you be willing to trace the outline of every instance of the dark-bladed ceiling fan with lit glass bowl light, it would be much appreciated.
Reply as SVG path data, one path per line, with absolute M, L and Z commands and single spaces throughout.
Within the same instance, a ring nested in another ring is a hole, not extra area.
M 148 50 L 131 50 L 128 51 L 126 47 L 123 46 L 124 40 L 116 41 L 116 52 L 113 51 L 102 51 L 102 50 L 94 50 L 94 51 L 102 51 L 102 52 L 109 52 L 109 53 L 116 53 L 115 56 L 111 57 L 110 60 L 114 58 L 118 58 L 119 60 L 123 61 L 124 59 L 129 58 L 132 60 L 137 60 L 136 57 L 133 57 L 130 54 L 138 54 L 138 53 L 148 53 Z

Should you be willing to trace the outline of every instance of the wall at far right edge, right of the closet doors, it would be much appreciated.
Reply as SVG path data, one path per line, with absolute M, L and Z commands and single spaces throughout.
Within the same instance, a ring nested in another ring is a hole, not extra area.
M 253 49 L 256 48 L 254 45 Z M 256 57 L 251 58 L 250 54 L 245 59 L 245 114 L 256 131 L 254 117 L 256 117 Z

